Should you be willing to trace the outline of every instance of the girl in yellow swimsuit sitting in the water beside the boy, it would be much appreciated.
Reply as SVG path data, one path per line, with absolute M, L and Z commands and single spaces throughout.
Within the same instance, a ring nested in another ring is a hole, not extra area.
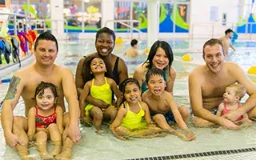
M 154 126 L 150 118 L 150 110 L 145 102 L 141 101 L 141 89 L 134 78 L 127 78 L 120 85 L 123 93 L 123 102 L 118 110 L 117 117 L 110 125 L 110 130 L 119 139 L 152 138 L 160 136 L 162 129 Z M 142 118 L 145 118 L 144 122 Z

